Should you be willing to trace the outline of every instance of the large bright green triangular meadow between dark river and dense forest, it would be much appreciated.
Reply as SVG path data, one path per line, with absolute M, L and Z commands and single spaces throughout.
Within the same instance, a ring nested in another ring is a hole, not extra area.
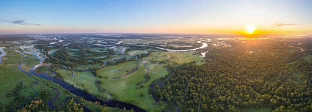
M 143 66 L 143 64 L 140 64 L 137 71 L 127 76 L 117 79 L 110 77 L 108 79 L 101 79 L 104 81 L 102 87 L 113 94 L 111 96 L 111 99 L 117 99 L 122 102 L 133 104 L 146 110 L 158 110 L 156 106 L 153 105 L 156 102 L 151 97 L 151 94 L 148 91 L 148 85 L 151 82 L 142 83 L 142 87 L 136 85 L 138 82 L 145 80 L 145 75 L 145 67 Z M 144 94 L 143 97 L 141 96 L 141 93 Z

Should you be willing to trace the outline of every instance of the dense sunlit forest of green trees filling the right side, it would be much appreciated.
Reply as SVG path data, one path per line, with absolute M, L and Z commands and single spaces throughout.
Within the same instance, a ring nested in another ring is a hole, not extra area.
M 202 66 L 169 67 L 166 80 L 154 83 L 154 95 L 173 105 L 163 112 L 175 112 L 175 105 L 181 112 L 311 112 L 312 63 L 306 55 L 281 45 L 216 49 Z

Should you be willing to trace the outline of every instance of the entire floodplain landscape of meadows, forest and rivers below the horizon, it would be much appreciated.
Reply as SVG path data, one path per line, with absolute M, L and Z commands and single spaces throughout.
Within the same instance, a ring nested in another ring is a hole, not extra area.
M 312 101 L 309 37 L 16 34 L 0 41 L 4 112 L 31 110 L 32 101 L 42 105 L 34 111 L 92 112 L 305 111 Z

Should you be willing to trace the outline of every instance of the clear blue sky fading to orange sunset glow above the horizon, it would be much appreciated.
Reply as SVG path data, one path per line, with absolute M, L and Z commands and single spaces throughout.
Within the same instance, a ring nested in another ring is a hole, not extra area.
M 0 0 L 0 34 L 312 34 L 312 0 Z

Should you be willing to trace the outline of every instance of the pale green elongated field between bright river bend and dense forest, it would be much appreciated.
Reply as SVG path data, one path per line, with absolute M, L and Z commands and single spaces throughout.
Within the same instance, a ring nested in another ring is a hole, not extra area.
M 150 60 L 153 62 L 169 61 L 177 64 L 200 62 L 204 61 L 199 54 L 193 54 L 188 52 L 152 52 L 149 57 L 144 57 L 143 60 Z M 197 64 L 197 63 L 196 63 Z M 198 63 L 203 64 L 203 63 Z

